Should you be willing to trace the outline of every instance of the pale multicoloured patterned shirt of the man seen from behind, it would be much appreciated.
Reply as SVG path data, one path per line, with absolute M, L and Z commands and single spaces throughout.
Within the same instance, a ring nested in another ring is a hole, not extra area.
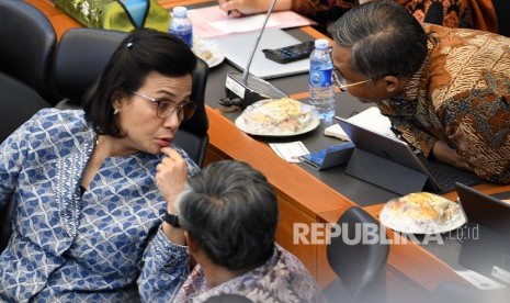
M 212 289 L 197 265 L 172 302 L 204 302 L 222 294 L 237 294 L 252 302 L 325 302 L 303 263 L 280 246 L 263 266 Z

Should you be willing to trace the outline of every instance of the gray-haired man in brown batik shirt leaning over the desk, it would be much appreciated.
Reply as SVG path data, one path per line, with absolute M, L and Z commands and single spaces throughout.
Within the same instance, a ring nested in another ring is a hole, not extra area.
M 336 22 L 335 82 L 426 157 L 510 183 L 510 38 L 420 23 L 395 1 Z

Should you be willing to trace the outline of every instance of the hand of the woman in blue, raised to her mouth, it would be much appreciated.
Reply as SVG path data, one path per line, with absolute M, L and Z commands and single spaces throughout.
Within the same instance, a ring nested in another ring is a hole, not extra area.
M 186 162 L 170 147 L 161 148 L 161 153 L 167 157 L 156 167 L 156 186 L 167 201 L 168 212 L 173 214 L 175 213 L 175 199 L 188 182 Z

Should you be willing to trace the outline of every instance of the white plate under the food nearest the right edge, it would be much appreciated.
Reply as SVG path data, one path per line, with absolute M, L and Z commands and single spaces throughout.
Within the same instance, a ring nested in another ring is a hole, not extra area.
M 450 201 L 450 203 L 455 202 Z M 386 204 L 379 213 L 379 220 L 384 226 L 399 233 L 421 235 L 442 234 L 454 231 L 466 223 L 464 213 L 460 207 L 457 210 L 458 211 L 452 215 L 452 220 L 450 222 L 443 224 L 429 222 L 424 224 L 423 222 L 412 221 L 411 218 L 404 216 L 395 217 L 392 212 L 388 211 Z

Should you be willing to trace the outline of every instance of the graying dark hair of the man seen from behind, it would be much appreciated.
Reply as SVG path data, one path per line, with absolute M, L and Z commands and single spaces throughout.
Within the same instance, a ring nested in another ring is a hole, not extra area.
M 265 177 L 246 162 L 208 165 L 179 199 L 179 220 L 216 265 L 249 270 L 274 249 L 277 202 Z

